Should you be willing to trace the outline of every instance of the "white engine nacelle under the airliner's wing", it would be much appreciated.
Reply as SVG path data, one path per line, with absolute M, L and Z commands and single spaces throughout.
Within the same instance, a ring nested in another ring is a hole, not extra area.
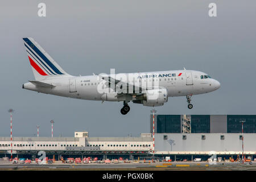
M 146 101 L 143 100 L 143 106 L 162 106 L 164 102 L 168 101 L 167 89 L 152 89 L 146 90 Z

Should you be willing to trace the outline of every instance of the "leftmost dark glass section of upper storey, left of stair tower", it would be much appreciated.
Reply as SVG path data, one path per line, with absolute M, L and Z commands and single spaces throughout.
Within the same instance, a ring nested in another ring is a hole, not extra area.
M 180 115 L 157 115 L 157 133 L 180 133 Z

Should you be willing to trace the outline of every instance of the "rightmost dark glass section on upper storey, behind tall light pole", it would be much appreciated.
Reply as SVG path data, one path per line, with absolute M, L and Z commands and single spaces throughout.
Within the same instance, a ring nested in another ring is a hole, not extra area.
M 256 115 L 227 115 L 228 133 L 256 133 Z

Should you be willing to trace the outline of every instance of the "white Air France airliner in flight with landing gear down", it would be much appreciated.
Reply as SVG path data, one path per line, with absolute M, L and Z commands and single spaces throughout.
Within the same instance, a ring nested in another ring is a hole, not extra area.
M 220 82 L 207 73 L 191 70 L 72 76 L 65 72 L 32 38 L 23 38 L 35 80 L 23 89 L 62 97 L 94 101 L 121 101 L 122 114 L 130 111 L 131 101 L 143 106 L 162 106 L 168 97 L 185 96 L 188 109 L 191 97 L 213 92 Z

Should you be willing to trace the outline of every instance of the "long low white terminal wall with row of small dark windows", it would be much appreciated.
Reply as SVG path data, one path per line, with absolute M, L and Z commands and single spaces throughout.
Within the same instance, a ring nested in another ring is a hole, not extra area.
M 0 138 L 1 139 L 1 138 Z M 108 141 L 109 139 L 109 141 Z M 30 140 L 30 141 L 28 141 Z M 65 147 L 100 147 L 100 150 L 106 151 L 149 151 L 154 150 L 151 138 L 97 138 L 93 141 L 80 137 L 76 141 L 72 138 L 16 138 L 13 141 L 13 150 L 65 150 Z M 107 141 L 106 141 L 107 140 Z M 130 141 L 127 141 L 130 140 Z M 145 141 L 146 140 L 146 141 Z M 0 151 L 11 150 L 9 138 L 0 140 Z

